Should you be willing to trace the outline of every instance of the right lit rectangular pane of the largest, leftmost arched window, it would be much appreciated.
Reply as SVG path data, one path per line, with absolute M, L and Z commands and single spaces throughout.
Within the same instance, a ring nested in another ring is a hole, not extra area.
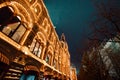
M 19 28 L 16 30 L 14 35 L 12 36 L 12 39 L 19 42 L 23 34 L 25 33 L 26 28 L 23 25 L 20 25 Z

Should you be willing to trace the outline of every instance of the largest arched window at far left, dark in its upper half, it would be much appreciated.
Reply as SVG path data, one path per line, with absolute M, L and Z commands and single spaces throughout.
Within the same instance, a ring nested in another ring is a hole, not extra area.
M 19 42 L 26 31 L 26 27 L 9 7 L 0 9 L 0 31 L 10 37 L 11 39 Z

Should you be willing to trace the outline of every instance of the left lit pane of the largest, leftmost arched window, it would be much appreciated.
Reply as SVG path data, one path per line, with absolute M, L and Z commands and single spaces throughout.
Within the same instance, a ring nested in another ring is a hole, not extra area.
M 8 26 L 3 26 L 2 32 L 6 35 L 11 36 L 19 24 L 20 22 L 9 24 Z

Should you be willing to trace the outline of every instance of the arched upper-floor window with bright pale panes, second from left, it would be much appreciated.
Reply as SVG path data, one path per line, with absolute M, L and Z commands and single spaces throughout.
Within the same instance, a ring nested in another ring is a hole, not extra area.
M 42 51 L 42 45 L 37 39 L 33 39 L 33 42 L 30 45 L 30 51 L 36 56 L 40 57 Z

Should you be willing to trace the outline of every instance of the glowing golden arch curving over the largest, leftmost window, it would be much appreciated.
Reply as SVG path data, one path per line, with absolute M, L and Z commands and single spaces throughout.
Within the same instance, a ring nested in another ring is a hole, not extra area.
M 5 6 L 8 6 L 11 9 L 11 11 L 13 11 L 15 16 L 20 16 L 22 19 L 21 21 L 25 22 L 28 25 L 28 28 L 32 28 L 33 20 L 31 19 L 31 15 L 19 2 L 16 1 L 4 2 L 0 5 L 0 8 Z

